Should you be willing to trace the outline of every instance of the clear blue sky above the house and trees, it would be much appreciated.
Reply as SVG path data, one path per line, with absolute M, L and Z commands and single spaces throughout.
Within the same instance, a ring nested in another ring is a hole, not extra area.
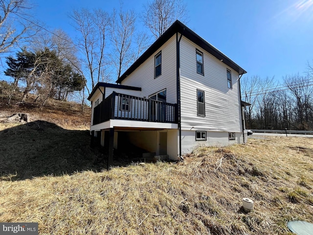
M 34 17 L 49 30 L 76 32 L 68 14 L 73 9 L 112 12 L 117 0 L 30 0 Z M 275 76 L 307 71 L 313 64 L 313 0 L 185 0 L 186 24 L 248 73 Z M 124 1 L 124 9 L 140 14 L 145 0 Z M 140 24 L 138 24 L 140 25 Z

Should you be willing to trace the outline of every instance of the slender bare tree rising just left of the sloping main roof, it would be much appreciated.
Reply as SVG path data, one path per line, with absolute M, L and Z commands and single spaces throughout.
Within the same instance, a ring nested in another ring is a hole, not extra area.
M 112 42 L 112 64 L 116 69 L 117 78 L 125 71 L 134 60 L 132 43 L 135 30 L 135 14 L 133 10 L 113 10 L 111 18 L 111 42 Z

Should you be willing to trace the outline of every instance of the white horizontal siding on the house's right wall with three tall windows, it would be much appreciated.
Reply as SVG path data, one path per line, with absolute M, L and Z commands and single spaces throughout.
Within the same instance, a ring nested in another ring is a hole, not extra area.
M 196 49 L 203 53 L 204 76 L 197 73 Z M 181 129 L 241 133 L 238 72 L 184 37 L 180 68 Z M 227 69 L 231 71 L 232 89 L 227 87 Z M 205 117 L 197 113 L 197 90 L 204 91 Z

